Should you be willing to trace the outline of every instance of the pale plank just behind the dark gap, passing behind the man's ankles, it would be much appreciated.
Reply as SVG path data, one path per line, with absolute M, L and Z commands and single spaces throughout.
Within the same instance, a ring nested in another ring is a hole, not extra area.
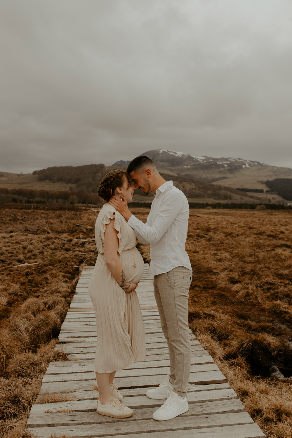
M 119 388 L 129 388 L 137 386 L 157 386 L 165 381 L 165 374 L 149 376 L 137 376 L 137 377 L 117 377 L 115 383 Z M 197 373 L 190 373 L 189 382 L 195 385 L 207 385 L 208 383 L 224 383 L 226 378 L 221 371 L 202 371 Z M 44 382 L 40 389 L 42 392 L 68 392 L 68 391 L 86 391 L 91 389 L 91 380 L 68 380 L 58 382 Z

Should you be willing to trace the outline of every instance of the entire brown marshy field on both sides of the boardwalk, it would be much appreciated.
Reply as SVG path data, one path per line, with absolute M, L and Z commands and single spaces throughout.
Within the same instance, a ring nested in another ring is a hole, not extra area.
M 144 222 L 149 212 L 131 211 Z M 54 346 L 81 268 L 96 260 L 97 214 L 0 205 L 1 438 L 28 438 L 42 375 L 66 360 Z M 191 209 L 186 251 L 190 328 L 267 437 L 291 438 L 292 212 Z

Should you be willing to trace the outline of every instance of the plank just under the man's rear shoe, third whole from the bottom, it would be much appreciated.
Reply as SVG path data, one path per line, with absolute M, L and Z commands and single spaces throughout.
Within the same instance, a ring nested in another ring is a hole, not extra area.
M 145 389 L 146 392 L 146 389 Z M 57 402 L 57 403 L 44 403 L 39 405 L 32 405 L 31 412 L 36 413 L 44 413 L 46 410 L 50 410 L 52 412 L 56 412 L 61 409 L 72 410 L 74 412 L 77 411 L 90 411 L 96 410 L 96 396 L 98 396 L 98 392 L 95 392 L 95 398 L 88 400 L 72 400 L 70 402 Z M 192 403 L 207 403 L 207 402 L 218 402 L 220 400 L 234 400 L 237 399 L 236 393 L 233 389 L 219 389 L 213 391 L 193 391 L 188 392 L 187 401 L 189 404 Z M 123 404 L 129 406 L 132 409 L 136 408 L 148 408 L 159 407 L 163 403 L 163 400 L 154 400 L 148 399 L 148 397 L 144 396 L 132 396 L 132 397 L 124 397 Z M 241 403 L 241 402 L 240 402 Z

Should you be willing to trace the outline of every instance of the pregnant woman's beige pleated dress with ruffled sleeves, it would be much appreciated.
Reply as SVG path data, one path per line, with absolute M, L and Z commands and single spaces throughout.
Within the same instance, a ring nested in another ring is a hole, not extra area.
M 97 346 L 94 371 L 111 373 L 146 359 L 145 329 L 136 291 L 125 293 L 106 266 L 103 254 L 106 224 L 114 219 L 120 258 L 126 279 L 141 280 L 144 261 L 137 250 L 134 230 L 115 208 L 105 204 L 95 223 L 98 257 L 88 286 L 96 316 Z M 136 268 L 133 268 L 133 264 Z

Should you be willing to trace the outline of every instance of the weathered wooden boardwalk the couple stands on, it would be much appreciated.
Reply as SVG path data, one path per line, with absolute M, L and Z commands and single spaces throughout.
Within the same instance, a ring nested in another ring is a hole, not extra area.
M 153 292 L 153 277 L 144 266 L 137 288 L 146 332 L 147 360 L 116 374 L 123 403 L 134 410 L 126 419 L 96 412 L 98 392 L 92 388 L 96 345 L 95 313 L 88 295 L 93 267 L 81 273 L 76 294 L 59 336 L 58 348 L 69 361 L 51 362 L 42 379 L 39 397 L 31 409 L 28 430 L 38 437 L 113 438 L 264 438 L 212 357 L 190 332 L 192 364 L 188 385 L 189 411 L 168 421 L 155 421 L 152 413 L 164 400 L 145 396 L 147 389 L 165 381 L 168 348 L 162 333 Z M 55 403 L 42 403 L 44 396 Z

